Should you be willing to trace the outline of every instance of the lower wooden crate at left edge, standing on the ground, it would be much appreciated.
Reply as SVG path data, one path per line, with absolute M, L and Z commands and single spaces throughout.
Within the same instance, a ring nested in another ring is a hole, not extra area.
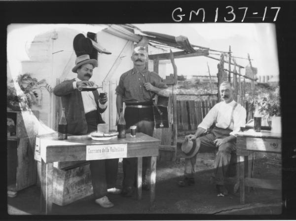
M 7 188 L 18 191 L 36 184 L 35 137 L 7 141 Z

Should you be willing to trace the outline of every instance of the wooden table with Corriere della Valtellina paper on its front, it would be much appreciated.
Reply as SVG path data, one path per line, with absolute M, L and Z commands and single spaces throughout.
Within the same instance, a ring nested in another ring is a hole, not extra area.
M 137 133 L 135 138 L 132 138 L 130 137 L 130 134 L 127 134 L 124 139 L 112 138 L 108 141 L 95 141 L 87 137 L 87 135 L 68 136 L 68 140 L 58 140 L 57 133 L 54 133 L 37 136 L 37 144 L 39 144 L 41 156 L 41 198 L 44 197 L 45 200 L 46 214 L 50 213 L 52 210 L 53 162 L 63 161 L 137 157 L 137 195 L 138 199 L 141 199 L 142 157 L 151 157 L 150 206 L 153 206 L 155 199 L 156 157 L 158 155 L 160 140 L 143 133 Z M 119 149 L 121 152 L 119 153 L 120 156 L 114 155 L 113 153 L 108 153 L 106 155 L 106 153 L 99 153 L 99 149 L 106 150 L 103 150 L 103 152 L 107 152 L 107 149 L 108 152 L 112 152 L 111 149 Z

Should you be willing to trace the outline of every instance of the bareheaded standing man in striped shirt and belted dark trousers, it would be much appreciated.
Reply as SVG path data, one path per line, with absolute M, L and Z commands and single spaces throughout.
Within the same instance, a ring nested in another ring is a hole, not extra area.
M 167 85 L 162 78 L 146 69 L 148 59 L 144 47 L 136 47 L 131 57 L 134 68 L 120 76 L 119 84 L 116 87 L 116 107 L 119 110 L 126 104 L 124 118 L 126 127 L 137 126 L 137 131 L 153 135 L 154 118 L 152 109 L 152 98 L 155 94 L 168 97 L 164 92 Z M 146 184 L 146 171 L 148 168 L 148 157 L 143 157 L 143 189 L 148 189 Z M 136 158 L 123 159 L 123 182 L 122 195 L 131 196 L 136 186 Z

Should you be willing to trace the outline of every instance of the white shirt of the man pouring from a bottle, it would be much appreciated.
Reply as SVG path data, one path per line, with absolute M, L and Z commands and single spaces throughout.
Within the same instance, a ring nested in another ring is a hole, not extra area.
M 77 81 L 81 81 L 81 80 L 78 79 L 78 78 L 75 78 L 75 81 L 73 81 L 73 88 L 74 88 L 74 90 L 77 89 L 77 85 L 76 85 L 76 82 Z M 84 112 L 85 113 L 88 113 L 90 111 L 97 110 L 97 105 L 96 105 L 96 102 L 95 102 L 95 97 L 94 97 L 92 91 L 81 91 L 81 96 L 82 96 L 83 107 L 84 107 Z M 99 107 L 101 109 L 105 109 L 107 107 L 107 104 L 102 105 L 99 102 Z

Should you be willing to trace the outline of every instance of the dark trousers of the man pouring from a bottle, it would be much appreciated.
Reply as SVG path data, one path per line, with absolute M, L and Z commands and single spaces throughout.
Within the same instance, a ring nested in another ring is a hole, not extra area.
M 97 111 L 85 114 L 87 133 L 97 130 L 99 118 Z M 118 159 L 91 160 L 89 165 L 91 181 L 96 199 L 107 195 L 107 189 L 116 185 Z

